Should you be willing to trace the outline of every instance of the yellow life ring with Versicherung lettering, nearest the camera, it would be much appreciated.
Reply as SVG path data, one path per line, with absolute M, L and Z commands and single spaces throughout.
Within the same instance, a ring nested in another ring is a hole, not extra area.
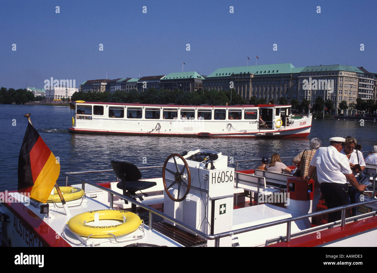
M 94 221 L 94 214 L 98 212 L 100 220 L 120 220 L 123 218 L 126 221 L 122 224 L 115 226 L 89 226 L 86 223 Z M 140 217 L 137 214 L 129 212 L 127 210 L 113 210 L 113 209 L 103 209 L 103 210 L 92 210 L 78 214 L 68 221 L 67 225 L 69 229 L 80 235 L 87 237 L 92 234 L 93 238 L 107 238 L 112 237 L 109 233 L 115 236 L 125 235 L 134 232 L 141 224 Z

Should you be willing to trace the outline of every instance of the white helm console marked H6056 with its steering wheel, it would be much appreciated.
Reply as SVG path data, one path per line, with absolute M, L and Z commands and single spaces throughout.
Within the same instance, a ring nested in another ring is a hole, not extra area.
M 164 213 L 207 234 L 231 230 L 234 168 L 228 168 L 227 156 L 207 149 L 172 154 L 162 178 Z M 228 238 L 221 241 L 231 245 Z

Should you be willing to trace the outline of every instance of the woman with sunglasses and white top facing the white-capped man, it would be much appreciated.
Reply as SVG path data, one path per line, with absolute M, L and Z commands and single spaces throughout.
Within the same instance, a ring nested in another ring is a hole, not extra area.
M 355 175 L 357 181 L 360 180 L 360 172 L 365 168 L 365 161 L 362 152 L 356 149 L 357 140 L 354 137 L 346 137 L 344 142 L 343 150 L 340 152 L 346 156 L 349 161 L 349 166 L 351 167 L 352 173 Z M 351 204 L 356 203 L 359 200 L 361 192 L 356 192 L 353 186 L 348 187 L 348 195 Z M 352 216 L 356 215 L 356 207 L 352 207 Z

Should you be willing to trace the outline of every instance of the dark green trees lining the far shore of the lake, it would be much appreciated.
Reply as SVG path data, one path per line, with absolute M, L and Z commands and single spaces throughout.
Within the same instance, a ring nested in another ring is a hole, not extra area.
M 27 91 L 26 89 L 5 88 L 0 89 L 0 104 L 25 104 L 28 101 L 41 101 L 44 97 L 36 96 L 33 93 Z M 180 104 L 180 105 L 200 105 L 200 104 L 210 104 L 210 105 L 236 105 L 236 104 L 288 104 L 288 100 L 281 97 L 275 101 L 270 99 L 267 101 L 263 98 L 257 98 L 252 96 L 249 100 L 243 99 L 240 95 L 236 93 L 233 89 L 231 91 L 217 91 L 216 89 L 211 90 L 200 90 L 191 93 L 184 92 L 182 90 L 165 90 L 155 88 L 147 89 L 144 92 L 137 92 L 137 90 L 132 90 L 130 92 L 116 90 L 114 93 L 103 92 L 103 93 L 84 93 L 76 92 L 72 95 L 73 101 L 92 101 L 92 102 L 121 102 L 121 103 L 133 103 L 139 102 L 142 104 Z M 63 101 L 68 101 L 68 99 L 63 98 Z M 308 113 L 310 102 L 307 99 L 303 99 L 299 102 L 297 99 L 292 99 L 290 104 L 292 105 L 293 113 Z M 322 113 L 325 109 L 325 113 L 333 113 L 334 102 L 330 99 L 326 101 L 319 96 L 315 101 L 311 109 L 312 112 L 317 114 Z M 343 111 L 343 114 L 347 109 L 362 111 L 365 113 L 373 113 L 377 110 L 377 103 L 373 99 L 368 99 L 367 101 L 357 98 L 356 103 L 347 104 L 346 101 L 342 101 L 339 104 L 339 109 Z M 336 113 L 335 113 L 336 114 Z M 340 113 L 339 113 L 340 114 Z

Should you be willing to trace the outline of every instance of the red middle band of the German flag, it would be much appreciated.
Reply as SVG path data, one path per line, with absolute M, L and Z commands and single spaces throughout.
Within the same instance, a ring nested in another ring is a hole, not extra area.
M 50 149 L 48 148 L 46 143 L 44 143 L 43 139 L 39 137 L 30 151 L 30 165 L 34 183 L 37 180 L 38 175 L 42 171 L 50 155 Z

